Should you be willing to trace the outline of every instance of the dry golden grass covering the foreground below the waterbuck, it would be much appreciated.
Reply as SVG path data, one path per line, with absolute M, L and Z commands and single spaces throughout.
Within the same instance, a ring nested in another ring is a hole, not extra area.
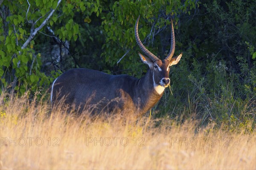
M 255 131 L 225 133 L 163 119 L 145 130 L 146 117 L 129 123 L 48 116 L 33 104 L 24 115 L 16 101 L 1 106 L 0 169 L 256 169 Z

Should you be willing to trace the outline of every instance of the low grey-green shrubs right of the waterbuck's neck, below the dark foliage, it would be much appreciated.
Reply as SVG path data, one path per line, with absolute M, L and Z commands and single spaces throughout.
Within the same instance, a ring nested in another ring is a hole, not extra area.
M 186 59 L 172 69 L 172 93 L 166 89 L 155 107 L 155 117 L 199 119 L 201 125 L 215 123 L 225 130 L 255 127 L 256 67 L 249 69 L 241 57 L 236 58 L 241 73 L 228 68 L 224 60 L 212 60 L 202 71 L 194 60 L 189 71 Z

